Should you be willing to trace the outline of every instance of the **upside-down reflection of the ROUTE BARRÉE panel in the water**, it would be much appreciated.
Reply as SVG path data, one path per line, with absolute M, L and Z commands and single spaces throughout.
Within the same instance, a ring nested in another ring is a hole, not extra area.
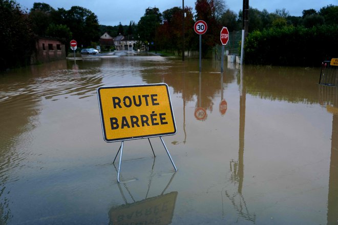
M 109 211 L 110 224 L 170 224 L 178 192 L 123 204 Z

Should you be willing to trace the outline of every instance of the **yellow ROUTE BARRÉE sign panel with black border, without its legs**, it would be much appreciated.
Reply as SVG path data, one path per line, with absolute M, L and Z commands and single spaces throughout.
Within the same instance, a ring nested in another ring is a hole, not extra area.
M 100 87 L 97 95 L 107 142 L 176 133 L 166 84 Z

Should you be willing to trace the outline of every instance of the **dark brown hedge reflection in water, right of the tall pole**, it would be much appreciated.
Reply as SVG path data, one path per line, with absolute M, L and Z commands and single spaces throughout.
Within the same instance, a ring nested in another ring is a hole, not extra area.
M 245 66 L 247 93 L 291 103 L 318 103 L 320 69 Z M 237 83 L 239 84 L 240 78 Z

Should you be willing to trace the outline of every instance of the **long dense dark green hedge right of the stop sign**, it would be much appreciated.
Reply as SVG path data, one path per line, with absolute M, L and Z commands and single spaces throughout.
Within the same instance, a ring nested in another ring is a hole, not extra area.
M 250 33 L 244 46 L 247 64 L 320 66 L 338 56 L 338 26 L 270 28 Z

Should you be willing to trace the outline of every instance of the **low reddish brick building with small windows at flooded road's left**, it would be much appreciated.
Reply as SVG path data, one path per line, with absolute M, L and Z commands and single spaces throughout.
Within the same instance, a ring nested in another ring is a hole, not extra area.
M 66 48 L 58 39 L 40 37 L 37 39 L 36 52 L 31 57 L 31 64 L 48 63 L 66 59 Z

